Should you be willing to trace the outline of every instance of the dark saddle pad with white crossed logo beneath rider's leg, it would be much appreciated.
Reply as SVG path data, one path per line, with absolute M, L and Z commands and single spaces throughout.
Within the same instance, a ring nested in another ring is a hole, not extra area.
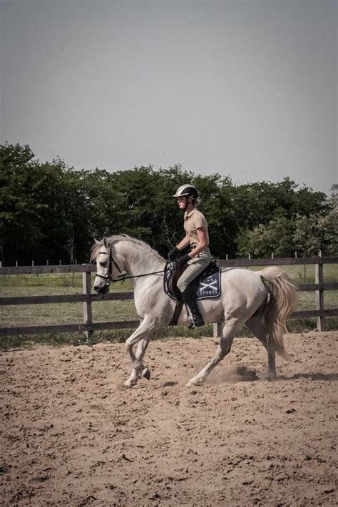
M 177 282 L 183 270 L 176 270 L 171 262 L 165 267 L 164 291 L 172 299 L 182 299 Z M 196 299 L 219 297 L 221 293 L 220 267 L 215 262 L 211 264 L 190 284 L 196 290 Z

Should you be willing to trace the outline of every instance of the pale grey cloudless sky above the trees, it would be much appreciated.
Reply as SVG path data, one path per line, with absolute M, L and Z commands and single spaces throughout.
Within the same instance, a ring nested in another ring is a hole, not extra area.
M 337 183 L 336 0 L 0 0 L 0 143 Z

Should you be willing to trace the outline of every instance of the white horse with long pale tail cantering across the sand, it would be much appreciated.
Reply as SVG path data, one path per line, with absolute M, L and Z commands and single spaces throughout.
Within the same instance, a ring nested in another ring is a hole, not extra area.
M 122 272 L 132 277 L 135 307 L 140 316 L 140 325 L 126 341 L 133 369 L 124 385 L 132 387 L 141 377 L 150 378 L 148 368 L 142 363 L 150 337 L 156 330 L 168 326 L 173 318 L 175 301 L 163 290 L 165 260 L 145 242 L 126 235 L 96 241 L 91 249 L 91 260 L 96 261 L 93 288 L 99 294 L 108 292 L 109 283 Z M 198 301 L 206 324 L 222 322 L 220 344 L 215 357 L 188 381 L 187 386 L 203 384 L 212 369 L 229 354 L 232 340 L 243 324 L 247 324 L 267 349 L 269 378 L 274 378 L 275 352 L 287 357 L 283 332 L 297 303 L 295 285 L 278 267 L 266 267 L 257 272 L 226 268 L 222 270 L 221 283 L 219 297 Z M 183 309 L 178 324 L 187 324 L 188 318 L 187 310 Z M 138 345 L 134 352 L 135 344 Z

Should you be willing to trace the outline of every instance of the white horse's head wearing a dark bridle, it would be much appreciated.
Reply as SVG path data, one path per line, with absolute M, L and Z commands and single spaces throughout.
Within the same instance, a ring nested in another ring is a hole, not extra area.
M 106 294 L 109 292 L 109 282 L 121 275 L 121 269 L 113 257 L 112 245 L 106 237 L 101 241 L 95 240 L 95 245 L 91 249 L 91 260 L 96 261 L 93 288 L 98 294 Z

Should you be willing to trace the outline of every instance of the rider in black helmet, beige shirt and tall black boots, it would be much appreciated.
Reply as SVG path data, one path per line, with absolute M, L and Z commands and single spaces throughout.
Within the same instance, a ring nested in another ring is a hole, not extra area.
M 196 208 L 198 191 L 193 185 L 181 185 L 173 197 L 177 199 L 180 210 L 184 210 L 185 237 L 170 250 L 169 258 L 173 260 L 180 255 L 180 250 L 190 245 L 190 252 L 181 255 L 177 260 L 178 267 L 188 262 L 188 267 L 178 279 L 177 285 L 193 317 L 191 327 L 200 327 L 204 325 L 204 321 L 190 282 L 195 280 L 211 262 L 208 223 L 205 216 Z

